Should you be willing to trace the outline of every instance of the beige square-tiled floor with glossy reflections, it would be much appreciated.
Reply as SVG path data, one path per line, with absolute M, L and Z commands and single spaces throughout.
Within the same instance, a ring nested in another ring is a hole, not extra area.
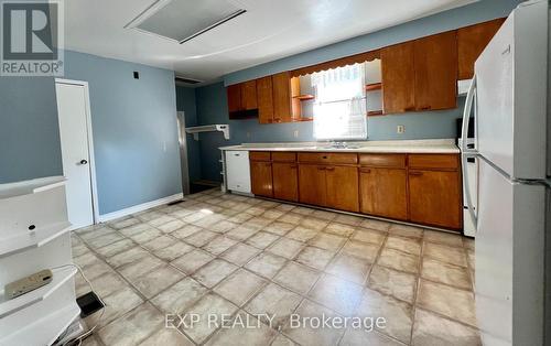
M 107 303 L 84 345 L 479 345 L 473 250 L 456 235 L 205 191 L 74 233 L 75 262 Z M 203 317 L 176 331 L 166 313 Z M 256 327 L 216 327 L 212 313 Z M 296 328 L 291 314 L 385 324 Z

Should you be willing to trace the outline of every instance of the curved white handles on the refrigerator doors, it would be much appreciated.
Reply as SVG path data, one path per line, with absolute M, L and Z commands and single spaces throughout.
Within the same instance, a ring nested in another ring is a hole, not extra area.
M 473 196 L 471 195 L 471 190 L 468 188 L 468 163 L 467 159 L 468 158 L 476 158 L 478 155 L 476 149 L 469 150 L 467 147 L 467 137 L 468 137 L 468 122 L 471 120 L 471 112 L 473 110 L 473 105 L 476 98 L 476 75 L 473 76 L 473 80 L 471 82 L 471 86 L 468 88 L 467 93 L 467 98 L 465 100 L 465 109 L 463 111 L 463 128 L 462 128 L 462 133 L 461 133 L 461 165 L 462 165 L 462 176 L 463 176 L 463 190 L 465 191 L 465 199 L 466 199 L 466 205 L 468 209 L 468 215 L 471 216 L 471 219 L 473 220 L 473 225 L 475 226 L 475 229 L 477 227 L 477 216 L 475 213 L 475 208 L 473 206 Z M 475 109 L 475 117 L 476 117 L 476 109 Z M 476 121 L 476 119 L 475 119 Z

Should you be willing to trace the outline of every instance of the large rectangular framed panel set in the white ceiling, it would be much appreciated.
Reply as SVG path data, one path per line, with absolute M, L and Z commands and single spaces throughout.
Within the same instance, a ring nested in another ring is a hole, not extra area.
M 159 0 L 125 28 L 182 44 L 245 12 L 247 11 L 220 0 Z

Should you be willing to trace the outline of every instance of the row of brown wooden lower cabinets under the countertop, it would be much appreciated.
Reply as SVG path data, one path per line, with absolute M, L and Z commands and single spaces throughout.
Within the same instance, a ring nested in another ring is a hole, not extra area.
M 251 191 L 255 195 L 282 201 L 449 229 L 462 228 L 457 154 L 353 156 L 354 161 L 350 153 L 251 151 Z

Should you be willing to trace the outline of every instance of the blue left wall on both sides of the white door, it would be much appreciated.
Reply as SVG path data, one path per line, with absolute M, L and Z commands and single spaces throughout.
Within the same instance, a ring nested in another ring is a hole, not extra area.
M 89 84 L 100 214 L 182 192 L 172 71 L 66 51 L 64 78 Z M 53 78 L 0 77 L 0 182 L 62 174 Z

